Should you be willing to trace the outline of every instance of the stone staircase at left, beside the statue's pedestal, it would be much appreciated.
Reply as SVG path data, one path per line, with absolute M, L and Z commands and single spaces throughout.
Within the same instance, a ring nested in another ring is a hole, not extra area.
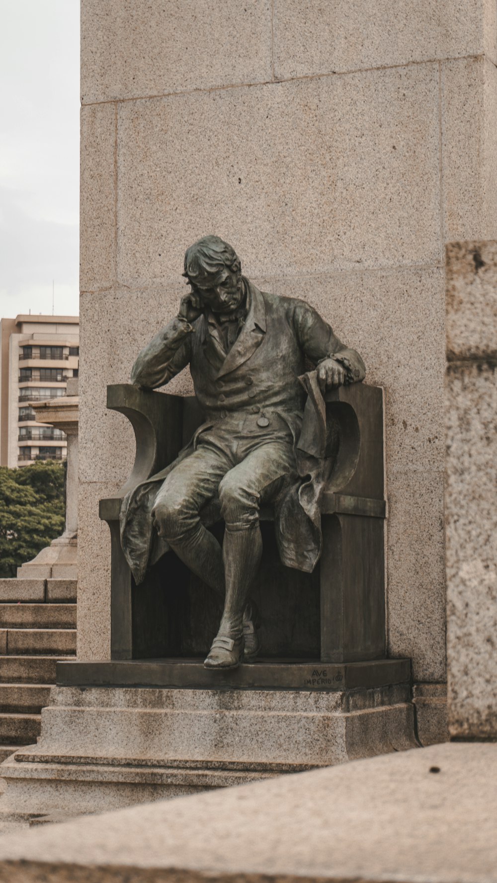
M 75 579 L 0 579 L 0 762 L 40 736 L 56 661 L 76 654 Z

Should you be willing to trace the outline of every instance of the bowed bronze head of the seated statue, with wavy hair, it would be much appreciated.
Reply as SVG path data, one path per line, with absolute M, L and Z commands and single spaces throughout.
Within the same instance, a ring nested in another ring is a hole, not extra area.
M 233 312 L 244 297 L 240 259 L 218 236 L 204 236 L 186 249 L 183 275 L 214 313 Z

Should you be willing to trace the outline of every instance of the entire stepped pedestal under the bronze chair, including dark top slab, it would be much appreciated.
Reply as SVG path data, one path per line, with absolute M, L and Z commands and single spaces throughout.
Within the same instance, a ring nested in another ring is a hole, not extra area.
M 87 664 L 88 684 L 113 676 L 130 686 L 52 688 L 39 742 L 2 765 L 3 815 L 103 811 L 416 745 L 409 660 L 258 662 L 226 672 L 222 689 L 138 686 L 154 683 L 154 672 L 156 681 L 177 678 L 182 665 L 186 680 L 195 683 L 196 669 L 215 683 L 199 662 L 169 663 L 169 675 L 151 660 L 99 665 Z M 240 687 L 271 668 L 294 669 L 309 689 Z M 59 681 L 72 671 L 80 676 L 81 664 L 60 665 Z

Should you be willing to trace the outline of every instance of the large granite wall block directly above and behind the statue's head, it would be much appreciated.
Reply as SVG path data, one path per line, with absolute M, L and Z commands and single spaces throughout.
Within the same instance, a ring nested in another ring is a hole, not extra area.
M 177 278 L 207 230 L 252 275 L 441 259 L 436 64 L 121 102 L 117 117 L 125 285 Z

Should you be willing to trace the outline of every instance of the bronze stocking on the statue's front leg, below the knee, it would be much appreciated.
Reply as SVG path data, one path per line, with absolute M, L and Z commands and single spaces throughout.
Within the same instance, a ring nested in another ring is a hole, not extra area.
M 222 543 L 226 598 L 220 625 L 222 634 L 242 632 L 245 604 L 259 570 L 262 536 L 259 522 L 242 530 L 226 528 Z

